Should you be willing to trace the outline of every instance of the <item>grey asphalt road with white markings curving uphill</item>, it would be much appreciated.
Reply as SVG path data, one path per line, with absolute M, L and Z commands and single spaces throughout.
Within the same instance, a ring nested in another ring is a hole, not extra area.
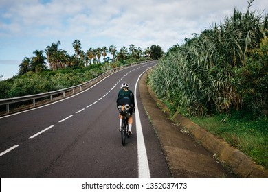
M 74 97 L 1 117 L 1 178 L 170 178 L 136 86 L 155 64 L 123 69 Z M 115 104 L 122 82 L 135 91 L 137 106 L 124 147 Z

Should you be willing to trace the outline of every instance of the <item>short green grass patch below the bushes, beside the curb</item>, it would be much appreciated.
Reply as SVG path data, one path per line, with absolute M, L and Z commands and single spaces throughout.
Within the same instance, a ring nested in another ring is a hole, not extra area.
M 240 111 L 191 119 L 268 169 L 267 116 L 254 119 L 251 113 Z

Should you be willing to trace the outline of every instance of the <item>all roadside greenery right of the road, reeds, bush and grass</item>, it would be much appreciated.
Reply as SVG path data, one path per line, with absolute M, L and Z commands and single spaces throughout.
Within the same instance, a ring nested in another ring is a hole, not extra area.
M 171 47 L 149 81 L 173 115 L 216 122 L 210 131 L 268 167 L 268 16 L 252 2 Z

